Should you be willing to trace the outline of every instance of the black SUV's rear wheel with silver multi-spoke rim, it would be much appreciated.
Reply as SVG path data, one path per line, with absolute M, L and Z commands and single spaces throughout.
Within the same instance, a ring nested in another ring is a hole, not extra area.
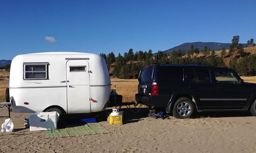
M 174 117 L 178 119 L 191 118 L 193 117 L 194 112 L 195 105 L 189 98 L 186 97 L 179 98 L 175 102 L 172 110 Z

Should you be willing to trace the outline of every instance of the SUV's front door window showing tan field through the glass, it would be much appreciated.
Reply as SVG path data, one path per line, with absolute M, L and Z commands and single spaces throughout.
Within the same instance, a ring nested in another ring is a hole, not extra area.
M 214 69 L 217 83 L 238 83 L 239 77 L 229 69 Z

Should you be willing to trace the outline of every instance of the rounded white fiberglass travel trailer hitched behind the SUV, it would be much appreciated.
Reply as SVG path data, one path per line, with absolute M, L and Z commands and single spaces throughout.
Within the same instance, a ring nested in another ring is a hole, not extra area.
M 17 55 L 11 62 L 13 112 L 91 113 L 104 110 L 111 82 L 103 57 L 49 52 Z

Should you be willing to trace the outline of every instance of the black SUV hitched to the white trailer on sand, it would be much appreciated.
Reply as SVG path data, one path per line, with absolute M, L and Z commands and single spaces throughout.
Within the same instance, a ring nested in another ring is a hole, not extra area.
M 247 111 L 256 116 L 256 84 L 244 83 L 230 68 L 154 64 L 139 74 L 136 101 L 165 108 L 176 118 L 197 112 Z

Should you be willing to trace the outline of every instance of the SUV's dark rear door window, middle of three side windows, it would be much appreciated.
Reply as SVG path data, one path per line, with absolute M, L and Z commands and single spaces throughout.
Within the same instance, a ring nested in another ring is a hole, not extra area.
M 189 68 L 190 83 L 211 83 L 210 70 L 206 68 Z

